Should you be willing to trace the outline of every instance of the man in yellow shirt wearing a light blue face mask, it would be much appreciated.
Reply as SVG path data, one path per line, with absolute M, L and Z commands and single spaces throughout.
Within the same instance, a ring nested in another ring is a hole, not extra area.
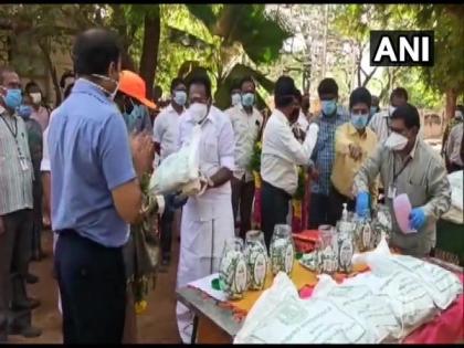
M 329 193 L 329 221 L 335 225 L 341 218 L 342 203 L 355 211 L 354 179 L 362 162 L 377 146 L 376 134 L 367 127 L 371 95 L 365 87 L 352 91 L 349 97 L 350 122 L 339 126 L 335 134 L 335 161 L 331 171 Z M 377 184 L 370 188 L 376 201 Z

